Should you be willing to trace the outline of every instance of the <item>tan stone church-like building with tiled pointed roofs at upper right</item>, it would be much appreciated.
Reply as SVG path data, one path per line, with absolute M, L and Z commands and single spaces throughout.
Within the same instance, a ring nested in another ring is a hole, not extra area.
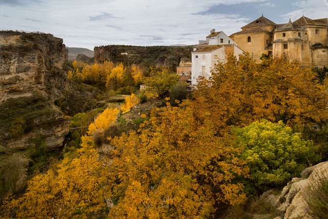
M 238 47 L 259 60 L 262 54 L 284 56 L 304 66 L 328 66 L 327 18 L 301 16 L 296 21 L 275 24 L 263 15 L 233 33 Z

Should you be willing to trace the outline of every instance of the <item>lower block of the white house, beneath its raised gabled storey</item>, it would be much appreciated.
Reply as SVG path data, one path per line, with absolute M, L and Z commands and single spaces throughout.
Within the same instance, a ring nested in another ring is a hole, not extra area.
M 197 84 L 199 76 L 209 78 L 212 75 L 211 70 L 214 65 L 217 62 L 227 62 L 230 53 L 238 59 L 239 54 L 242 54 L 242 52 L 235 44 L 202 46 L 191 52 L 191 85 Z

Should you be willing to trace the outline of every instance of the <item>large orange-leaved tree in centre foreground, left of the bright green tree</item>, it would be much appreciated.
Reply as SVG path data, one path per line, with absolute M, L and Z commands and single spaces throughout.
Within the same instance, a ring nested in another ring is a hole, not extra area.
M 219 203 L 243 203 L 243 186 L 232 181 L 248 168 L 213 126 L 210 117 L 199 124 L 189 107 L 168 106 L 139 134 L 112 139 L 110 218 L 204 218 Z

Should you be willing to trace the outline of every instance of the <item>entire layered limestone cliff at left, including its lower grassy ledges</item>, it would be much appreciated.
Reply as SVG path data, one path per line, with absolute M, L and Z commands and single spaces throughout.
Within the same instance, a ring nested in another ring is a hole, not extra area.
M 0 139 L 8 147 L 32 146 L 42 136 L 47 148 L 60 147 L 69 121 L 54 98 L 67 88 L 63 70 L 68 51 L 63 39 L 44 33 L 0 32 Z M 24 133 L 13 137 L 10 124 L 22 118 Z

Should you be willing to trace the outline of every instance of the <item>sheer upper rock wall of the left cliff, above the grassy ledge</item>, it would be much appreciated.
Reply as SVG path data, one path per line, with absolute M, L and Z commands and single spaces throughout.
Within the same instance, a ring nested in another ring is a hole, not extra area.
M 8 98 L 45 91 L 45 77 L 62 70 L 68 51 L 63 39 L 50 34 L 0 32 L 0 103 Z

